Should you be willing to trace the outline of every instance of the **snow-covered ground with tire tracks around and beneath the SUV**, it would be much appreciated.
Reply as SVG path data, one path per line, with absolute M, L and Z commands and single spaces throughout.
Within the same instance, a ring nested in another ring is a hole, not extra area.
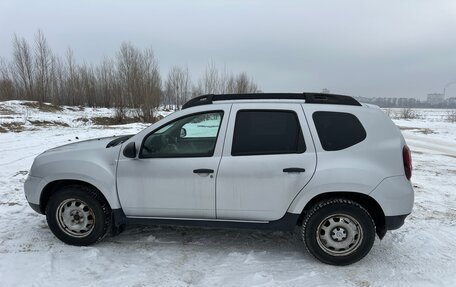
M 287 232 L 131 226 L 94 246 L 65 245 L 24 198 L 33 158 L 145 125 L 91 123 L 108 109 L 0 102 L 0 286 L 456 286 L 456 124 L 446 111 L 419 113 L 395 120 L 413 152 L 412 215 L 362 261 L 334 267 Z

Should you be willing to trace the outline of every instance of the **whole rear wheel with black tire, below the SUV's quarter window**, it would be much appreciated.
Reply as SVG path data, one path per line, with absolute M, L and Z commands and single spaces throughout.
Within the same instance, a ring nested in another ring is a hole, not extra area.
M 314 205 L 302 225 L 307 250 L 331 265 L 348 265 L 369 253 L 375 241 L 375 224 L 358 203 L 334 198 Z

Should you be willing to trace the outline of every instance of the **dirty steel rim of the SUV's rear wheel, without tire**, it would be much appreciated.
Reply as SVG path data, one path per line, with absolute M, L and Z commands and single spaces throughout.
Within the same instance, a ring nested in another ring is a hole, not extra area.
M 346 214 L 326 217 L 316 232 L 318 245 L 332 256 L 346 256 L 358 249 L 363 240 L 359 222 Z

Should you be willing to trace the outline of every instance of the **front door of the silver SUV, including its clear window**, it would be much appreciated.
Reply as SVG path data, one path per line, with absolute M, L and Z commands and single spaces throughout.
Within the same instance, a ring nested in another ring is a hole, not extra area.
M 117 188 L 127 217 L 215 218 L 215 174 L 229 106 L 208 108 L 170 116 L 133 139 L 137 158 L 119 156 Z

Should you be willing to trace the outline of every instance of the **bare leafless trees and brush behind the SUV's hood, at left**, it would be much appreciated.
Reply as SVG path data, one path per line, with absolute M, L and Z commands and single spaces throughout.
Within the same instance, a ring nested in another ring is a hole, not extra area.
M 153 50 L 131 43 L 97 64 L 78 63 L 71 48 L 55 54 L 41 31 L 32 44 L 15 35 L 12 47 L 9 61 L 0 58 L 0 100 L 115 108 L 119 121 L 129 110 L 150 122 L 159 106 L 178 109 L 202 94 L 260 92 L 245 72 L 233 74 L 212 61 L 195 82 L 188 67 L 179 65 L 163 78 Z

